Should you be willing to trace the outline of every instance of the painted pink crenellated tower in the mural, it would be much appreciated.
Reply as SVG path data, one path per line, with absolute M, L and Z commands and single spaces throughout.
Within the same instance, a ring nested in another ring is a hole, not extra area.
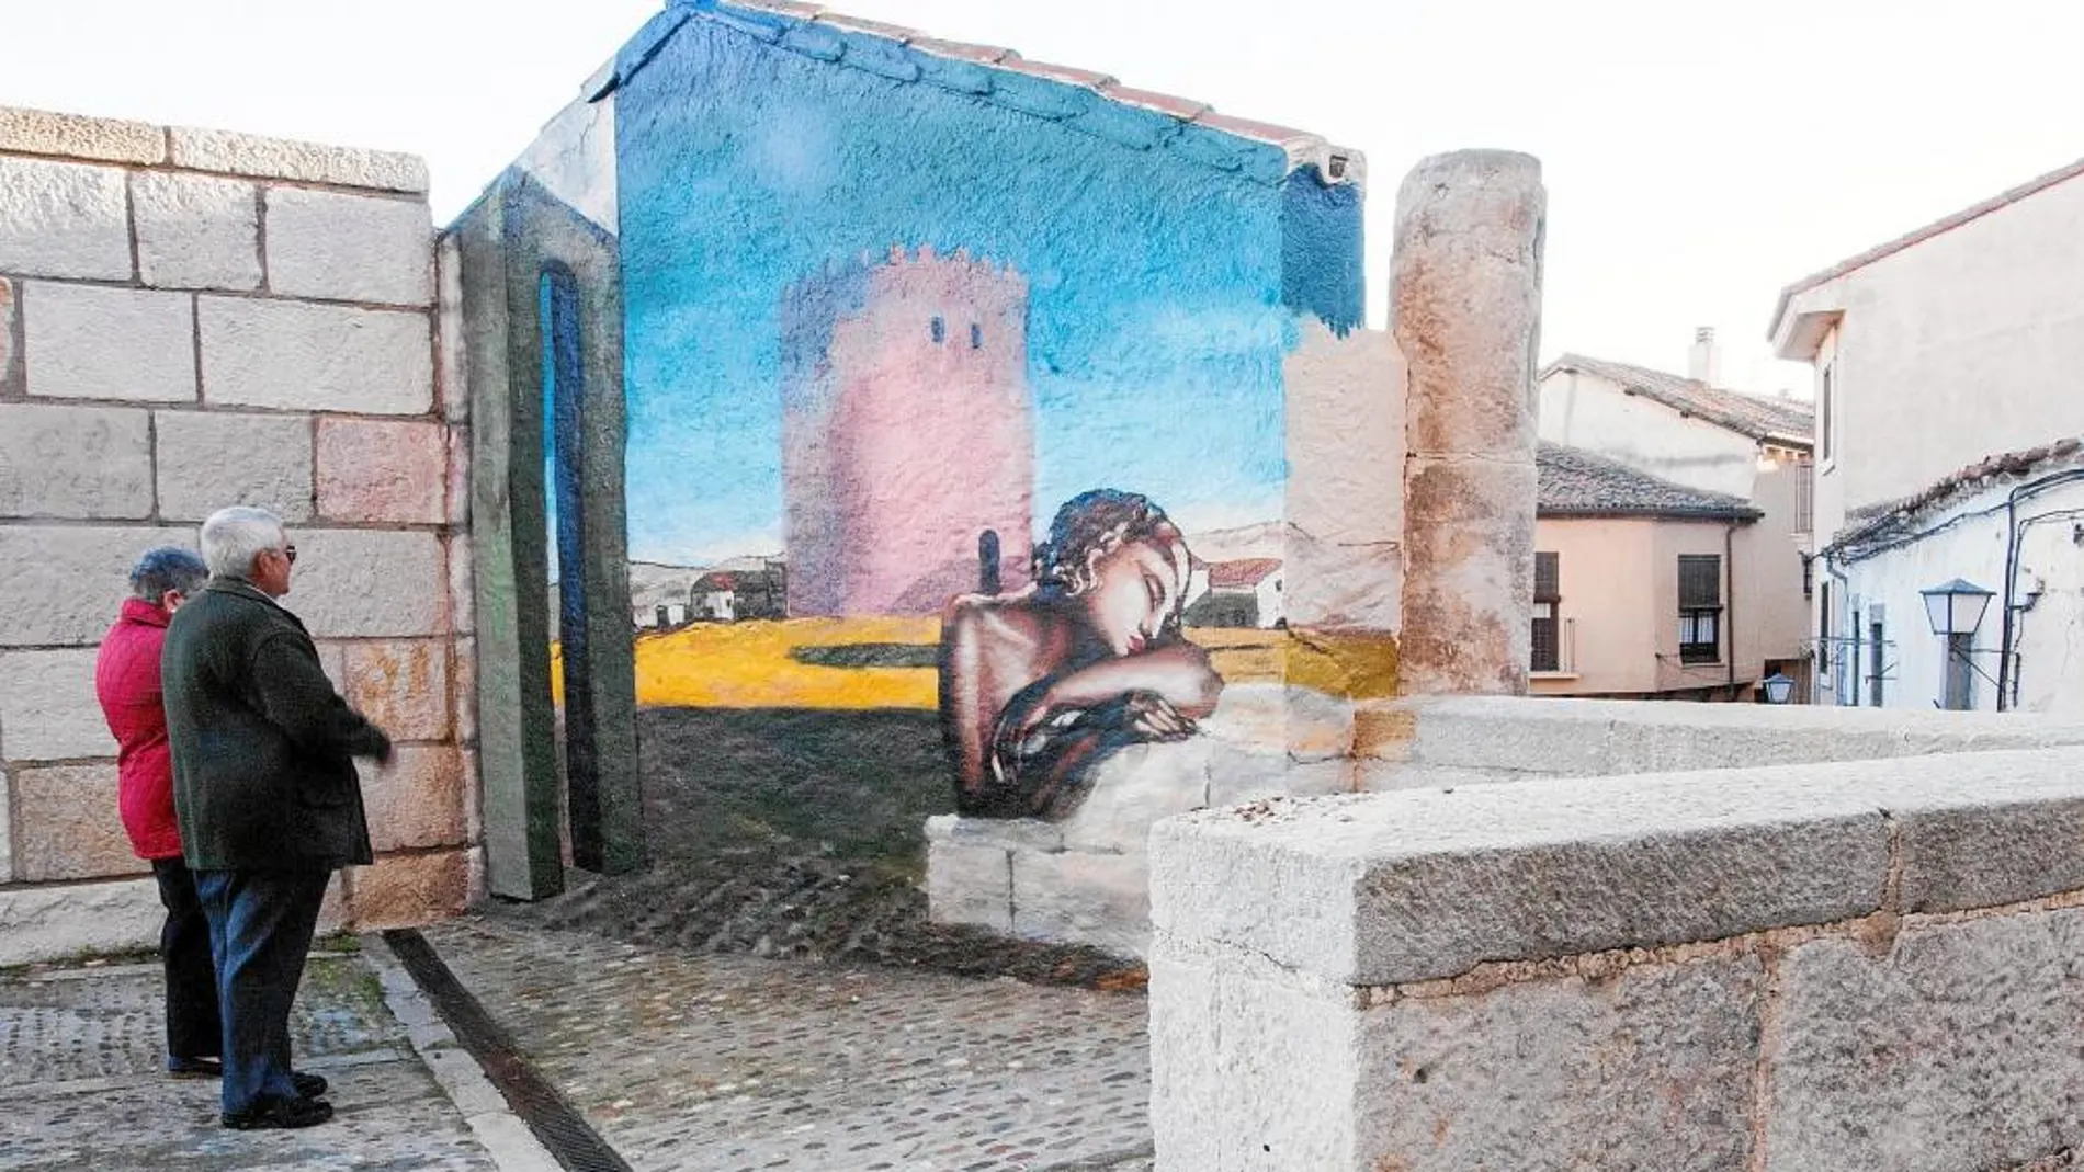
M 896 248 L 792 287 L 782 331 L 788 612 L 938 614 L 994 570 L 1023 585 L 1027 281 Z

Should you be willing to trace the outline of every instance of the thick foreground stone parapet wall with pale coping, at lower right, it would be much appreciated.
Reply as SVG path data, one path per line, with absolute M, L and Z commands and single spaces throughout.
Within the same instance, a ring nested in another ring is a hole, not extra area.
M 2080 766 L 1992 749 L 1163 822 L 1157 1166 L 2067 1168 Z

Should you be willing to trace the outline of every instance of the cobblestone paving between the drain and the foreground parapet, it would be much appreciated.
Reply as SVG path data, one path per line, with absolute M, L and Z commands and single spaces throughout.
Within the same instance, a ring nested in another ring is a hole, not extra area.
M 663 951 L 500 916 L 425 935 L 644 1172 L 1150 1168 L 1136 993 Z

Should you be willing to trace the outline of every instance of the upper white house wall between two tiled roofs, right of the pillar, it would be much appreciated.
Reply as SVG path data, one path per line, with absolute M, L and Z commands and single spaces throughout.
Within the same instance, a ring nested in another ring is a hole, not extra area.
M 1759 454 L 1751 437 L 1686 418 L 1596 375 L 1553 371 L 1542 379 L 1540 435 L 1678 485 L 1751 500 Z

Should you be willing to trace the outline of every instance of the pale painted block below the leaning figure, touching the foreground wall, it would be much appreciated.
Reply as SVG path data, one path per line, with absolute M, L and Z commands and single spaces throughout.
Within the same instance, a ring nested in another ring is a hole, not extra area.
M 1140 958 L 1150 949 L 1142 853 L 1013 853 L 1013 935 Z

